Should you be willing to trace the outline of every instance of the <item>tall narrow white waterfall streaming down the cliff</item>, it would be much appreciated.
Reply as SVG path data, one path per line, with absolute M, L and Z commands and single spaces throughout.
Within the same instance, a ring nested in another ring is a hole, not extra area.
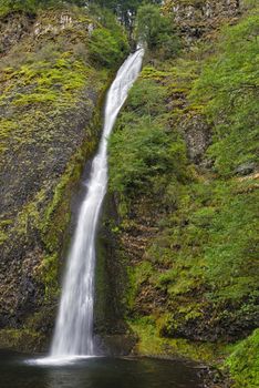
M 95 235 L 107 186 L 107 139 L 128 90 L 142 67 L 144 51 L 131 54 L 118 70 L 105 104 L 104 127 L 87 193 L 81 205 L 62 286 L 51 357 L 94 355 L 93 304 Z

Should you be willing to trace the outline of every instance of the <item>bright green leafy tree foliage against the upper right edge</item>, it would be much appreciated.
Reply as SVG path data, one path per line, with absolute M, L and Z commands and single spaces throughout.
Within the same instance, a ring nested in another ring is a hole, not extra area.
M 224 35 L 219 53 L 206 64 L 195 94 L 215 124 L 209 155 L 220 175 L 258 162 L 259 17 L 250 16 Z

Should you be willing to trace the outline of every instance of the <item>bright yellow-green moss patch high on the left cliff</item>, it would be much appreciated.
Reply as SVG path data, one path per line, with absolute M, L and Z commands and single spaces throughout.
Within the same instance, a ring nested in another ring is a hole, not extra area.
M 75 93 L 86 86 L 93 70 L 83 61 L 74 60 L 71 52 L 60 54 L 55 62 L 33 61 L 10 73 L 1 103 L 11 99 L 13 105 L 75 102 Z M 22 92 L 18 91 L 18 86 Z M 30 86 L 25 90 L 25 86 Z M 33 89 L 32 89 L 33 88 Z M 32 92 L 33 91 L 33 92 Z

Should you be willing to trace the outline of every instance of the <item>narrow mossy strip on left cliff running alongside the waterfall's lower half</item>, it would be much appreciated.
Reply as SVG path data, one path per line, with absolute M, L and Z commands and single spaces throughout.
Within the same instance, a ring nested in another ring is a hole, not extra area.
M 43 216 L 39 218 L 39 216 L 35 217 L 34 215 L 33 218 L 34 227 L 40 231 L 46 252 L 37 270 L 37 277 L 44 284 L 46 300 L 59 293 L 59 259 L 65 245 L 64 238 L 71 216 L 68 208 L 70 208 L 71 195 L 80 180 L 84 161 L 92 155 L 96 142 L 97 139 L 92 142 L 85 141 L 84 146 L 72 157 L 66 171 L 56 184 L 52 201 L 45 208 Z M 39 202 L 37 204 L 39 205 Z M 33 216 L 31 212 L 28 214 Z

